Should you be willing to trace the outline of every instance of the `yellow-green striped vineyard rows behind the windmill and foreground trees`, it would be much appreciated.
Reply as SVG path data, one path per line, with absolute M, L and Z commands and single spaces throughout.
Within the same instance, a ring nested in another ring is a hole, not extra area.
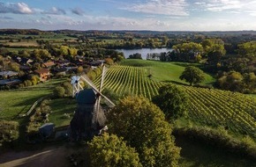
M 142 95 L 152 98 L 163 82 L 148 76 L 147 68 L 111 66 L 103 89 L 118 95 Z M 100 84 L 100 78 L 94 81 Z M 256 138 L 256 100 L 240 93 L 179 85 L 189 97 L 190 119 L 209 126 L 222 126 L 232 132 Z

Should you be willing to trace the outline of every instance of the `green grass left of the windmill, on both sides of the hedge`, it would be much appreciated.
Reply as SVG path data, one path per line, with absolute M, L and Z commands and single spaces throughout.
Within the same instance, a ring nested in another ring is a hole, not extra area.
M 19 90 L 0 91 L 0 120 L 18 120 L 19 123 L 24 123 L 28 117 L 20 118 L 19 115 L 25 114 L 36 100 L 50 95 L 56 85 L 66 80 L 67 78 L 52 79 L 49 82 Z M 70 103 L 70 105 L 66 105 L 68 103 Z M 56 121 L 57 126 L 65 124 L 64 119 L 59 120 L 58 118 L 60 118 L 64 112 L 73 112 L 74 105 L 75 103 L 72 99 L 63 98 L 51 100 L 50 106 L 53 114 L 51 114 L 49 119 L 54 122 Z

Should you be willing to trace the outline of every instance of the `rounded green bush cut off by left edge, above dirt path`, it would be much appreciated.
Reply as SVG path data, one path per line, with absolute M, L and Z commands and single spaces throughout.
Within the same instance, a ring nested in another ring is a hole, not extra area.
M 0 120 L 0 146 L 4 142 L 13 142 L 19 137 L 19 123 Z

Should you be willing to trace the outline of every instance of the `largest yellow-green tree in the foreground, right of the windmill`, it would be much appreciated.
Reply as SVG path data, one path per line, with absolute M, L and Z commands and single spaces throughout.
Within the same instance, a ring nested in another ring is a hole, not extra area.
M 180 149 L 175 146 L 171 127 L 159 107 L 143 97 L 120 100 L 107 115 L 109 131 L 139 153 L 143 166 L 177 166 Z

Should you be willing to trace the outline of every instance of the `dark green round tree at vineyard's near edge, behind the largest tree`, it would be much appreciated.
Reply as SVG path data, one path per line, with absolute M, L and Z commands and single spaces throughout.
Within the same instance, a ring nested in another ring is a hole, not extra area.
M 152 102 L 159 106 L 168 120 L 186 115 L 187 97 L 184 91 L 174 84 L 162 86 L 158 95 L 152 98 Z

